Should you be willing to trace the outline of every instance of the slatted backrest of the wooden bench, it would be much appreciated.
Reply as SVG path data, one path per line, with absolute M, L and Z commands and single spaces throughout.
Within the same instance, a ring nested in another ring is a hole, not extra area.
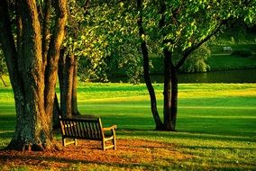
M 61 133 L 64 138 L 103 139 L 102 123 L 97 119 L 59 118 Z

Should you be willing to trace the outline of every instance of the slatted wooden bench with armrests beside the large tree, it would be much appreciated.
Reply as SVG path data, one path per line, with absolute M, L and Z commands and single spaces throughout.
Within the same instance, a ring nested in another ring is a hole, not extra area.
M 103 128 L 101 119 L 84 118 L 61 118 L 59 117 L 60 130 L 62 134 L 62 145 L 77 145 L 77 139 L 89 139 L 101 141 L 103 150 L 107 148 L 116 149 L 115 129 L 116 125 Z M 107 136 L 106 133 L 109 135 Z M 66 141 L 69 139 L 69 141 Z M 72 139 L 72 140 L 70 140 Z

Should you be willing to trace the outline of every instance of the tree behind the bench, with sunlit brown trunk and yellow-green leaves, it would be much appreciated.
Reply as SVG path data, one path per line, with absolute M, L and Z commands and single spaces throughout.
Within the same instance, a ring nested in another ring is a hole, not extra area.
M 131 82 L 138 82 L 142 66 L 140 56 L 134 55 L 138 54 L 134 46 L 138 38 L 131 12 L 129 4 L 117 1 L 69 1 L 66 39 L 59 59 L 59 112 L 64 117 L 79 114 L 77 75 L 83 81 L 105 82 L 113 71 L 123 68 L 121 72 L 126 72 Z M 58 114 L 55 116 L 58 125 Z

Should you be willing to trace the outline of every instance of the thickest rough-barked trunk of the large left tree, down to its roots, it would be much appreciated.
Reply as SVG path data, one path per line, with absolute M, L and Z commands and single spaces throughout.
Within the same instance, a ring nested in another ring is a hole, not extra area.
M 14 79 L 12 85 L 14 88 L 17 112 L 14 138 L 8 148 L 49 148 L 51 146 L 50 141 L 52 137 L 49 118 L 45 114 L 43 103 L 44 77 L 43 75 L 41 76 L 41 28 L 38 14 L 35 10 L 36 5 L 34 2 L 18 2 L 17 7 L 22 9 L 18 11 L 21 12 L 19 15 L 21 16 L 21 27 L 26 29 L 20 31 L 19 34 L 22 44 L 18 46 L 18 51 L 22 51 L 23 53 L 18 54 L 18 58 L 10 57 L 7 52 L 8 50 L 6 51 L 4 49 L 5 58 L 14 59 L 11 61 L 12 64 L 7 60 L 7 65 L 16 65 L 18 68 L 18 70 L 14 70 L 14 68 L 8 67 L 8 70 L 12 73 L 10 74 L 11 80 Z M 8 30 L 11 31 L 11 29 Z M 4 39 L 6 39 L 6 37 Z M 7 39 L 14 40 L 10 37 Z M 14 45 L 10 46 L 6 44 L 3 46 L 14 47 Z M 16 51 L 15 48 L 13 48 L 13 50 Z M 22 87 L 23 90 L 17 92 L 16 90 L 20 90 L 20 87 L 17 86 Z

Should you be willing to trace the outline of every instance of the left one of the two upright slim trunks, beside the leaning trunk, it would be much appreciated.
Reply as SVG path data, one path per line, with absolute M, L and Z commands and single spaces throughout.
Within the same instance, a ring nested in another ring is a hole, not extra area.
M 171 130 L 171 53 L 164 49 L 163 115 L 164 130 Z

